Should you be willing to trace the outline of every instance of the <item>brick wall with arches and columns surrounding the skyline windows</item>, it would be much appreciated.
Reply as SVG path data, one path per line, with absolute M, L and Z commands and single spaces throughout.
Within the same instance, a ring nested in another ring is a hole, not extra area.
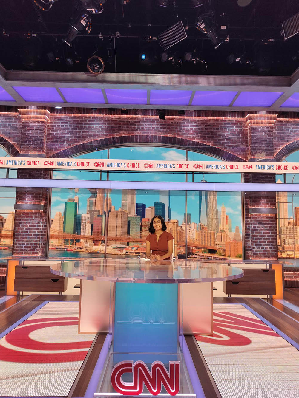
M 269 159 L 299 148 L 297 113 L 165 111 L 165 120 L 153 109 L 13 109 L 0 107 L 0 144 L 12 156 L 41 154 L 65 158 L 117 145 L 155 144 L 195 150 L 229 161 Z M 24 178 L 49 178 L 22 171 Z M 21 174 L 19 173 L 20 177 Z M 27 177 L 26 177 L 27 176 Z M 274 182 L 273 175 L 245 175 L 247 182 Z M 17 192 L 18 203 L 29 191 Z M 27 195 L 27 196 L 26 196 Z M 42 202 L 43 211 L 15 215 L 15 254 L 43 254 L 47 220 L 47 192 L 30 193 L 31 203 Z M 250 207 L 275 207 L 275 194 L 246 193 L 245 251 L 247 258 L 276 258 L 275 215 L 249 215 Z M 25 220 L 22 224 L 22 220 Z M 28 220 L 28 222 L 26 221 Z M 34 243 L 35 246 L 32 245 Z M 33 248 L 33 249 L 32 249 Z

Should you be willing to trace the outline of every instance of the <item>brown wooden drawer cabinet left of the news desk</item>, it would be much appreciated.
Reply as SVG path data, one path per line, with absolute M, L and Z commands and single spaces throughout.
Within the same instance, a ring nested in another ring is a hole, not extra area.
M 14 291 L 64 292 L 67 279 L 50 272 L 49 265 L 17 265 Z

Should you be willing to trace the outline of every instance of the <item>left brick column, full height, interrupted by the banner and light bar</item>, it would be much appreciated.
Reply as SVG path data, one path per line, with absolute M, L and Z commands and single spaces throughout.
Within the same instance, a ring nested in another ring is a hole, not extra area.
M 22 120 L 19 156 L 22 157 L 45 157 L 50 113 L 35 108 L 19 110 Z M 17 178 L 49 179 L 51 170 L 18 169 Z M 12 244 L 14 256 L 46 255 L 49 200 L 47 188 L 17 188 Z

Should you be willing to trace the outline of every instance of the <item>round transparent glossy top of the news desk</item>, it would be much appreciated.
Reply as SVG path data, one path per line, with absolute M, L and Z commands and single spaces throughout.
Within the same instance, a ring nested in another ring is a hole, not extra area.
M 237 279 L 241 268 L 186 260 L 82 259 L 50 265 L 51 273 L 65 277 L 109 282 L 196 283 Z

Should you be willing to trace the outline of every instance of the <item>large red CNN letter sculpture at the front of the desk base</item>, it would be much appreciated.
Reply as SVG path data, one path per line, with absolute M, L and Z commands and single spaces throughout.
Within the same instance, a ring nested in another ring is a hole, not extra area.
M 122 380 L 124 373 L 133 373 L 133 382 Z M 122 395 L 140 395 L 144 386 L 152 395 L 161 392 L 162 384 L 170 395 L 177 395 L 180 389 L 180 363 L 169 361 L 169 372 L 160 361 L 151 364 L 151 371 L 143 361 L 122 361 L 114 366 L 111 373 L 111 384 L 116 392 Z

